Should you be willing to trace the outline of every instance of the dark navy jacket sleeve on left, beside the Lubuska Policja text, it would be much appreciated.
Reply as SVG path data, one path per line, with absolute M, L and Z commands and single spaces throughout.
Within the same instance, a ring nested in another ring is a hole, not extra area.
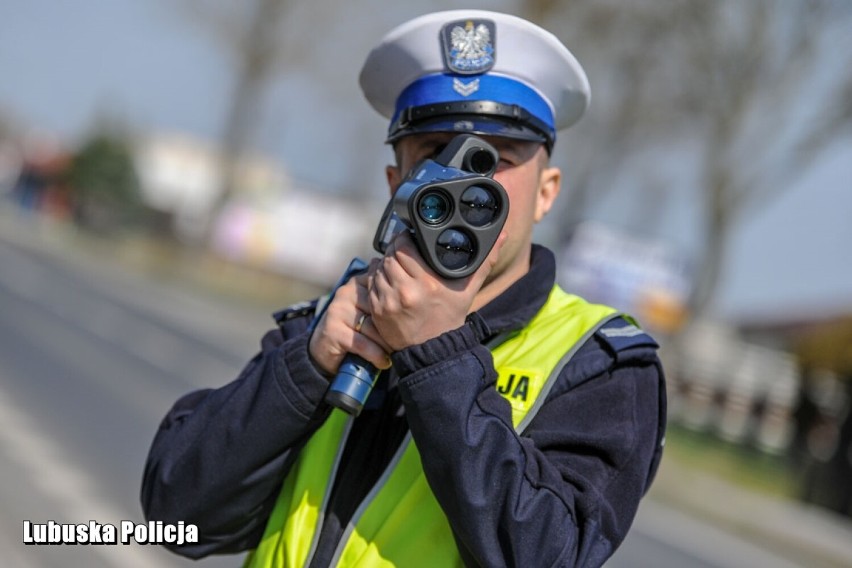
M 142 480 L 148 520 L 198 526 L 174 552 L 246 550 L 263 534 L 280 485 L 328 415 L 328 382 L 311 364 L 306 322 L 270 331 L 232 383 L 181 398 L 163 419 Z

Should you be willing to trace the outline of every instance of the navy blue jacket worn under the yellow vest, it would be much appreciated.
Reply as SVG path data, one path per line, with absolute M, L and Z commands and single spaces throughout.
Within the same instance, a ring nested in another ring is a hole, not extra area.
M 624 320 L 607 324 L 521 437 L 482 345 L 522 328 L 554 278 L 552 253 L 535 246 L 529 273 L 465 326 L 393 354 L 348 438 L 313 566 L 328 564 L 408 429 L 468 565 L 599 566 L 618 547 L 661 456 L 656 343 L 606 333 Z M 175 552 L 197 558 L 259 542 L 287 471 L 330 411 L 327 379 L 308 357 L 311 314 L 284 312 L 234 382 L 186 395 L 160 425 L 142 504 L 149 520 L 198 526 L 199 542 Z

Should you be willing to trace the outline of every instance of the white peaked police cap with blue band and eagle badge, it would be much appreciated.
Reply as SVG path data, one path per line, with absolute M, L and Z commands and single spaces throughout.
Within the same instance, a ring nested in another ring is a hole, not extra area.
M 590 99 L 583 68 L 556 36 L 485 10 L 436 12 L 396 27 L 367 56 L 359 82 L 391 121 L 388 141 L 458 131 L 550 147 Z

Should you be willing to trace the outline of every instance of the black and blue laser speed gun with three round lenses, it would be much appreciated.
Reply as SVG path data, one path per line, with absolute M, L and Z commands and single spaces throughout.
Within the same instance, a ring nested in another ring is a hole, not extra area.
M 506 190 L 491 179 L 498 159 L 497 151 L 476 136 L 453 138 L 436 158 L 418 163 L 403 180 L 385 208 L 373 247 L 384 253 L 394 237 L 407 230 L 439 276 L 455 279 L 476 272 L 509 212 Z M 377 376 L 375 367 L 350 353 L 329 386 L 326 402 L 357 416 Z

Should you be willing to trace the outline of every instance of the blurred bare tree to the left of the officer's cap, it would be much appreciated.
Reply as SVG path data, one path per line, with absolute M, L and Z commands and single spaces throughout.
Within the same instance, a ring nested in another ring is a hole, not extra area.
M 380 0 L 372 3 L 381 4 Z M 285 74 L 296 80 L 308 79 L 323 97 L 322 103 L 313 100 L 311 106 L 303 109 L 317 114 L 317 129 L 328 129 L 328 117 L 352 104 L 350 85 L 341 80 L 341 66 L 361 64 L 351 60 L 349 50 L 352 50 L 353 44 L 357 45 L 356 40 L 361 40 L 354 36 L 362 27 L 367 31 L 372 29 L 369 25 L 353 27 L 352 17 L 368 13 L 371 9 L 375 11 L 376 7 L 350 5 L 340 0 L 312 0 L 309 3 L 292 0 L 250 0 L 245 3 L 182 0 L 179 6 L 193 24 L 223 50 L 235 75 L 219 144 L 222 150 L 222 185 L 214 210 L 210 212 L 212 221 L 238 186 L 241 158 L 258 142 L 259 135 L 269 134 L 268 125 L 261 118 L 265 116 L 268 119 L 273 114 L 277 116 L 276 122 L 280 123 L 283 114 L 298 112 L 293 111 L 296 107 L 292 102 L 301 100 L 298 96 L 293 96 L 292 100 L 288 97 L 287 103 L 278 109 L 271 109 L 271 105 L 265 104 L 268 103 L 265 97 L 274 82 Z M 372 21 L 373 27 L 378 26 L 376 22 L 383 17 L 384 14 L 377 13 Z M 381 33 L 384 31 L 382 29 Z M 373 30 L 367 37 L 378 33 Z M 347 118 L 352 114 L 347 113 Z M 354 189 L 366 200 L 372 199 L 376 188 L 365 184 L 363 179 L 373 177 L 367 172 L 372 174 L 375 164 L 360 159 L 364 154 L 358 146 L 361 139 L 352 139 L 353 130 L 344 126 L 347 125 L 341 125 L 339 131 L 334 131 L 329 143 L 318 151 L 345 154 L 345 158 L 336 159 L 345 159 L 351 166 L 352 187 L 347 186 L 347 189 Z M 263 132 L 264 127 L 266 132 Z M 277 130 L 283 132 L 284 128 L 279 125 Z M 346 141 L 359 151 L 345 150 L 344 133 L 348 134 Z M 317 178 L 322 177 L 321 173 L 317 174 Z M 327 187 L 323 189 L 328 190 Z

